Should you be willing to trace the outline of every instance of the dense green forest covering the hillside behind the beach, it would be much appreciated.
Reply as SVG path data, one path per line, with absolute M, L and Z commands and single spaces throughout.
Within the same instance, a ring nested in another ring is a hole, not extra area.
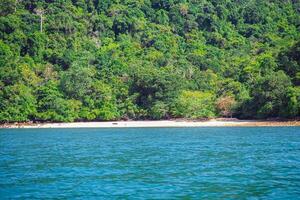
M 300 116 L 298 0 L 0 0 L 0 122 Z

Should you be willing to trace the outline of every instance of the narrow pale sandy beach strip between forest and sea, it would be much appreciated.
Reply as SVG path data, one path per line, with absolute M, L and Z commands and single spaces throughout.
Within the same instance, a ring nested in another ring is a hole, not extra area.
M 184 128 L 184 127 L 286 127 L 300 126 L 300 121 L 261 121 L 237 119 L 212 119 L 207 121 L 160 120 L 160 121 L 107 121 L 67 123 L 14 123 L 0 128 Z

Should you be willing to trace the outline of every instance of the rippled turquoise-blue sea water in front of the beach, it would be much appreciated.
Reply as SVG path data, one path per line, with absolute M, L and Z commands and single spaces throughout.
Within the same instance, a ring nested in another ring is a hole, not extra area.
M 0 129 L 0 199 L 300 199 L 300 128 Z

